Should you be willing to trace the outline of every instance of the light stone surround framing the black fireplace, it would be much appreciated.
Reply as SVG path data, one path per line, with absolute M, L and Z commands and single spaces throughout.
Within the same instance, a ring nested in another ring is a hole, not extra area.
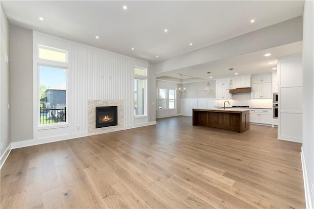
M 107 107 L 107 106 L 117 106 L 118 107 L 118 125 L 108 126 L 104 128 L 96 129 L 96 107 Z M 88 136 L 96 134 L 105 134 L 108 132 L 120 131 L 124 127 L 124 102 L 123 100 L 97 100 L 89 99 L 87 101 L 87 127 Z

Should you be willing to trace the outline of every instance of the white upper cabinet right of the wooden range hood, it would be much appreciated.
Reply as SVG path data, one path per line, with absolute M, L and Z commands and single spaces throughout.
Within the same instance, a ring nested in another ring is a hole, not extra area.
M 252 99 L 272 98 L 272 74 L 258 74 L 252 76 Z

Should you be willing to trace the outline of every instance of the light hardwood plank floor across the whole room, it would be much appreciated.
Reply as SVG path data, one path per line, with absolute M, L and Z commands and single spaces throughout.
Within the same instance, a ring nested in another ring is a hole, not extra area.
M 301 144 L 277 128 L 242 134 L 157 125 L 14 149 L 1 169 L 5 208 L 305 208 Z

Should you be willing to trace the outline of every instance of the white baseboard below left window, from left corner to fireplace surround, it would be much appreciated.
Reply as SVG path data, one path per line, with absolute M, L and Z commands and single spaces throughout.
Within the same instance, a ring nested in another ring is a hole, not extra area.
M 33 145 L 51 143 L 55 141 L 63 141 L 63 140 L 68 140 L 68 139 L 87 137 L 87 133 L 73 134 L 68 139 L 64 139 L 63 137 L 64 135 L 51 137 L 51 138 L 45 138 L 45 139 L 31 139 L 31 140 L 26 140 L 26 141 L 12 142 L 11 144 L 12 144 L 12 149 L 16 149 L 16 148 L 21 148 L 21 147 L 28 147 L 28 146 L 33 146 Z

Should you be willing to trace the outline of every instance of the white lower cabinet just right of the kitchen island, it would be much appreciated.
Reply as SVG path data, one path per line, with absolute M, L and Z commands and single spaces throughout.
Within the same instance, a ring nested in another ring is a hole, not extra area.
M 271 109 L 250 109 L 250 122 L 261 124 L 273 124 Z

